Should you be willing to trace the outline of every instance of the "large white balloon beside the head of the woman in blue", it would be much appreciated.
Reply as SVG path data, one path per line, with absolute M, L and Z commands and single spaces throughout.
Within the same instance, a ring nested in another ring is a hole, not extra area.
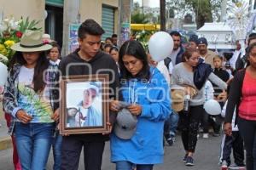
M 148 42 L 148 50 L 154 61 L 161 61 L 172 54 L 173 39 L 165 31 L 154 33 Z

